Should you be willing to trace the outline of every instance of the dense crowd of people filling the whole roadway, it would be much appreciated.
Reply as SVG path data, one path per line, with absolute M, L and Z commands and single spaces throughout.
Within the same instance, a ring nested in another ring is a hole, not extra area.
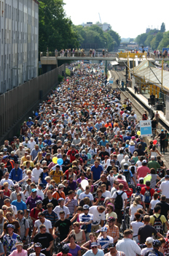
M 169 170 L 130 99 L 91 66 L 0 146 L 0 255 L 55 255 L 58 239 L 58 256 L 168 255 Z

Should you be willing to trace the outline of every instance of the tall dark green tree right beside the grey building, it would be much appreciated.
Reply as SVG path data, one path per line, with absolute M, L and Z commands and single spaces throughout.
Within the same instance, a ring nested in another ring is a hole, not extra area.
M 54 51 L 79 46 L 78 35 L 66 17 L 63 0 L 39 1 L 39 50 Z

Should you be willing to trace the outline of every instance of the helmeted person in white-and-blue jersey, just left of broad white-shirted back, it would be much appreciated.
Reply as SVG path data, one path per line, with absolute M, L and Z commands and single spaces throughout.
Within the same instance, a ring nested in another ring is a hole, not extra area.
M 114 243 L 114 238 L 107 236 L 107 227 L 101 227 L 101 236 L 98 237 L 98 248 L 106 249 L 111 243 Z

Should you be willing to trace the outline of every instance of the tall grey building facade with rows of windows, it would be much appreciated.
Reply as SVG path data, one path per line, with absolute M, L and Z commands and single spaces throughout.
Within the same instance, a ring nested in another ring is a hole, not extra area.
M 38 75 L 39 2 L 0 0 L 0 94 Z

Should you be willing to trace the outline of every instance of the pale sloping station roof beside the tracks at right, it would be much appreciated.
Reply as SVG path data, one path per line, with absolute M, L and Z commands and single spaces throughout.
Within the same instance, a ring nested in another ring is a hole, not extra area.
M 130 72 L 139 78 L 147 80 L 149 83 L 160 88 L 163 87 L 165 91 L 169 91 L 169 72 L 163 70 L 162 75 L 162 69 L 155 67 L 152 62 L 148 60 L 142 61 L 137 67 L 130 69 Z

